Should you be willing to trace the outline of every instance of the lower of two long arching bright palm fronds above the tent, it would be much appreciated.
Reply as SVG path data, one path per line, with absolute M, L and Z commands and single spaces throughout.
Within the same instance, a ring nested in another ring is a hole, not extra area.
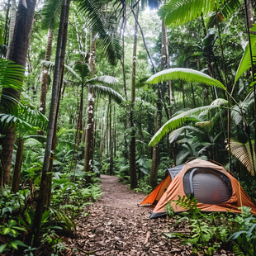
M 195 115 L 201 111 L 210 111 L 211 109 L 220 107 L 221 105 L 226 104 L 227 101 L 224 99 L 217 99 L 211 103 L 209 106 L 203 107 L 196 107 L 188 111 L 184 111 L 183 113 L 179 114 L 178 116 L 173 116 L 169 121 L 167 121 L 164 126 L 162 126 L 153 136 L 153 138 L 149 142 L 149 146 L 154 146 L 161 140 L 164 135 L 166 135 L 171 130 L 175 130 L 181 126 L 183 126 L 184 122 L 189 120 L 188 117 Z

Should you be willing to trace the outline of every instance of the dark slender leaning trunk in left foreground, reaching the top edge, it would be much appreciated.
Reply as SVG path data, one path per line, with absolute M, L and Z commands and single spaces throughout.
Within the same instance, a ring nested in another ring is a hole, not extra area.
M 35 220 L 32 227 L 32 233 L 34 234 L 34 241 L 32 244 L 37 244 L 39 235 L 40 235 L 40 222 L 45 209 L 45 197 L 47 192 L 47 173 L 50 168 L 50 157 L 51 157 L 51 149 L 52 142 L 54 137 L 55 130 L 55 116 L 57 112 L 57 105 L 59 99 L 59 79 L 61 76 L 60 63 L 61 63 L 61 53 L 62 53 L 62 45 L 63 45 L 63 37 L 64 37 L 64 26 L 65 21 L 69 17 L 69 0 L 63 0 L 62 2 L 62 11 L 59 22 L 59 36 L 57 41 L 57 50 L 56 50 L 56 58 L 55 58 L 55 72 L 54 72 L 54 80 L 52 87 L 52 97 L 50 103 L 50 115 L 49 115 L 49 123 L 48 123 L 48 131 L 46 138 L 46 146 L 45 146 L 45 158 L 44 164 L 42 168 L 42 177 L 40 183 L 40 192 L 36 206 L 36 215 Z

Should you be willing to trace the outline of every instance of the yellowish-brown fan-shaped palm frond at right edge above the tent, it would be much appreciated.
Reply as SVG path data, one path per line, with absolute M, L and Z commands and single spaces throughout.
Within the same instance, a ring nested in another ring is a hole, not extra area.
M 254 149 L 254 142 L 252 142 L 252 144 Z M 230 152 L 235 156 L 236 159 L 239 159 L 239 162 L 248 169 L 249 173 L 254 175 L 254 168 L 256 168 L 256 157 L 254 152 L 254 166 L 252 154 L 250 153 L 249 149 L 249 142 L 243 144 L 235 140 L 230 140 Z

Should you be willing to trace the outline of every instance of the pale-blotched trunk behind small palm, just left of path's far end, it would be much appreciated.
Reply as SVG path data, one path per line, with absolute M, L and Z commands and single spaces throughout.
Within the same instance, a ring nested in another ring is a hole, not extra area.
M 92 73 L 95 73 L 95 51 L 96 45 L 93 35 L 91 35 L 90 59 L 89 65 Z M 93 172 L 93 153 L 94 153 L 94 104 L 95 94 L 92 88 L 88 88 L 88 109 L 87 109 L 87 126 L 85 135 L 84 149 L 84 171 Z

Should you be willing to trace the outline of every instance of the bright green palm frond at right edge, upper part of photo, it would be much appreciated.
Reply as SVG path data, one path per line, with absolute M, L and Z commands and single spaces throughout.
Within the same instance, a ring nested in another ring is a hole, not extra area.
M 256 25 L 254 25 L 254 28 L 256 28 Z M 251 45 L 252 45 L 252 51 L 253 51 L 253 61 L 254 64 L 256 62 L 256 36 L 253 34 L 250 34 L 251 39 Z M 244 55 L 239 63 L 239 67 L 235 74 L 235 83 L 238 81 L 240 76 L 251 67 L 251 58 L 250 58 L 250 51 L 249 51 L 249 44 L 246 45 Z

